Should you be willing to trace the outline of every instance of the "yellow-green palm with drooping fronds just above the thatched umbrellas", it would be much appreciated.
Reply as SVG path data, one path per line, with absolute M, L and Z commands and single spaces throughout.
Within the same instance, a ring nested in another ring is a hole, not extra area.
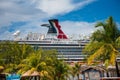
M 41 53 L 41 50 L 35 51 L 26 59 L 24 59 L 22 63 L 18 66 L 18 73 L 23 74 L 29 71 L 29 74 L 32 74 L 34 71 L 37 71 L 39 72 L 39 76 L 41 76 L 41 78 L 46 76 L 48 67 L 46 65 L 46 62 L 41 60 Z

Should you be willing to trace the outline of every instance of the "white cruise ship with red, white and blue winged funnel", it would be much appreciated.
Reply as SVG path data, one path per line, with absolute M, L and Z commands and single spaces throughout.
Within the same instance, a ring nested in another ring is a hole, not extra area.
M 84 59 L 85 55 L 82 50 L 88 39 L 73 40 L 69 39 L 62 31 L 58 19 L 48 20 L 49 24 L 42 24 L 47 27 L 48 32 L 45 35 L 37 33 L 29 33 L 24 39 L 16 39 L 19 44 L 29 44 L 35 50 L 42 48 L 43 50 L 57 50 L 58 59 L 64 59 L 67 62 L 77 62 Z

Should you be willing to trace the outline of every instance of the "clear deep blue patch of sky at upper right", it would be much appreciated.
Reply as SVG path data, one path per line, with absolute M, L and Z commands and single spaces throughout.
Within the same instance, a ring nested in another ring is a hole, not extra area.
M 120 0 L 96 0 L 82 9 L 63 15 L 59 19 L 95 22 L 105 20 L 109 16 L 113 16 L 116 21 L 120 22 Z

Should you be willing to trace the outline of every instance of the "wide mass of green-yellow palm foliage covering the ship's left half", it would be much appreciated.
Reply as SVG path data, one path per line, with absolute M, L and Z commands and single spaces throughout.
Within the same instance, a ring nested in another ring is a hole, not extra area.
M 57 59 L 56 50 L 33 50 L 17 42 L 0 42 L 0 65 L 7 73 L 37 71 L 41 80 L 66 80 L 69 70 L 67 63 Z

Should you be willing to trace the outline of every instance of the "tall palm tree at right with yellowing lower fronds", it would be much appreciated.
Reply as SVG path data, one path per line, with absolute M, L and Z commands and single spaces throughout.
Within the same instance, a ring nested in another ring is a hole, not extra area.
M 90 43 L 84 49 L 88 54 L 88 64 L 99 60 L 106 67 L 115 65 L 120 48 L 119 29 L 112 17 L 109 17 L 105 23 L 98 22 L 95 27 L 98 29 L 92 34 Z

